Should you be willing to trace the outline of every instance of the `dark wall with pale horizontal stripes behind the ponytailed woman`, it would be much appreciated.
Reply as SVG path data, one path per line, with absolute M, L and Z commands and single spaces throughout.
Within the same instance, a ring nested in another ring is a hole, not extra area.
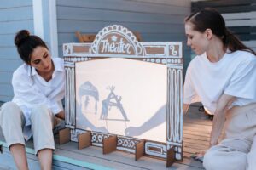
M 206 7 L 216 8 L 223 15 L 230 31 L 236 34 L 247 47 L 256 51 L 255 0 L 211 0 L 192 3 L 192 11 Z

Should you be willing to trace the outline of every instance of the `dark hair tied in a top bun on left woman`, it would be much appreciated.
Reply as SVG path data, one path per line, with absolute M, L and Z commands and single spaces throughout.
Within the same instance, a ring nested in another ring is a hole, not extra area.
M 34 48 L 40 46 L 48 49 L 45 42 L 40 37 L 30 35 L 30 32 L 27 30 L 21 30 L 16 34 L 15 45 L 20 54 L 20 59 L 28 65 L 31 63 L 31 54 Z

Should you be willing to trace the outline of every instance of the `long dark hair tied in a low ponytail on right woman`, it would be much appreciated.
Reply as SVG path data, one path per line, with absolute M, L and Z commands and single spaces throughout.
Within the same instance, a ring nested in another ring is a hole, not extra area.
M 213 8 L 204 8 L 198 12 L 190 14 L 185 19 L 185 23 L 188 22 L 193 25 L 195 31 L 200 31 L 201 33 L 207 29 L 211 29 L 212 33 L 222 40 L 224 48 L 229 48 L 231 53 L 236 50 L 242 50 L 256 55 L 253 49 L 247 48 L 238 37 L 230 33 L 225 26 L 225 21 L 222 15 Z

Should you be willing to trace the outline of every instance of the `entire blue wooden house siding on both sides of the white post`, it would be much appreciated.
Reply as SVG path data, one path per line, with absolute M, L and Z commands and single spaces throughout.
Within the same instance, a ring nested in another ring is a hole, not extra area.
M 49 13 L 49 3 L 43 3 L 44 15 Z M 185 41 L 183 18 L 190 13 L 189 0 L 56 0 L 56 3 L 60 56 L 63 43 L 78 42 L 75 31 L 97 33 L 113 24 L 140 32 L 145 42 Z M 49 37 L 46 18 L 44 37 Z M 13 42 L 15 33 L 21 29 L 34 32 L 32 0 L 0 3 L 0 25 L 0 101 L 8 101 L 13 97 L 13 71 L 22 64 Z M 49 42 L 49 38 L 45 41 Z M 189 50 L 184 47 L 184 56 L 189 60 Z

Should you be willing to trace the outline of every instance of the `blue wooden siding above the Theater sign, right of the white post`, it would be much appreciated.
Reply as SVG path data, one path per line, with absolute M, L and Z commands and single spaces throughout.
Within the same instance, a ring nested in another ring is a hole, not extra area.
M 62 44 L 78 42 L 75 31 L 96 34 L 118 24 L 140 32 L 143 42 L 186 41 L 183 19 L 190 13 L 189 0 L 56 0 L 59 55 Z M 184 43 L 188 64 L 189 49 Z

